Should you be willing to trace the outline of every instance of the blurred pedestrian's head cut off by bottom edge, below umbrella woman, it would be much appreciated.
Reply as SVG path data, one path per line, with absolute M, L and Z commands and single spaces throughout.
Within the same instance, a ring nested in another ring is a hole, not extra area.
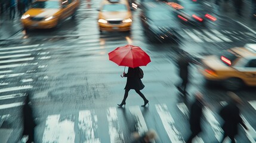
M 151 143 L 157 138 L 155 130 L 149 130 L 144 135 L 140 136 L 138 133 L 134 134 L 135 140 L 132 143 Z

